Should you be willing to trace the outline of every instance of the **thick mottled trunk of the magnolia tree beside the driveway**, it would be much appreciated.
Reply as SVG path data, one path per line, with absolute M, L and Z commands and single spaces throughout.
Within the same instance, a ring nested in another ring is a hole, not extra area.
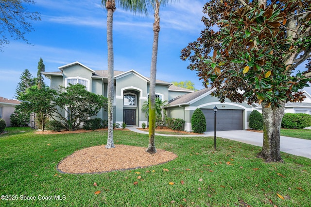
M 280 130 L 284 116 L 285 102 L 280 107 L 265 107 L 262 104 L 263 145 L 258 157 L 266 162 L 283 162 L 280 155 Z

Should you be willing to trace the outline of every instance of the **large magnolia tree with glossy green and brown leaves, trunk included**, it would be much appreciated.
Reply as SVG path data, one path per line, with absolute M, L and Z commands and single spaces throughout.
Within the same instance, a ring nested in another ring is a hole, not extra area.
M 182 60 L 205 86 L 216 87 L 221 102 L 261 104 L 259 157 L 282 161 L 285 103 L 303 101 L 298 90 L 311 76 L 311 0 L 210 0 L 203 12 L 206 29 L 182 50 Z

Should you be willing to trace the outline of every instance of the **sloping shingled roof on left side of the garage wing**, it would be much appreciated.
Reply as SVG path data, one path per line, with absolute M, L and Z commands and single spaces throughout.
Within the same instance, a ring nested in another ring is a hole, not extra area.
M 197 90 L 197 91 L 194 91 L 192 93 L 188 93 L 182 96 L 177 96 L 176 98 L 169 101 L 168 107 L 175 106 L 175 105 L 188 105 L 193 100 L 198 99 L 200 96 L 206 94 L 210 90 L 212 90 L 212 88 L 204 88 L 204 89 Z

